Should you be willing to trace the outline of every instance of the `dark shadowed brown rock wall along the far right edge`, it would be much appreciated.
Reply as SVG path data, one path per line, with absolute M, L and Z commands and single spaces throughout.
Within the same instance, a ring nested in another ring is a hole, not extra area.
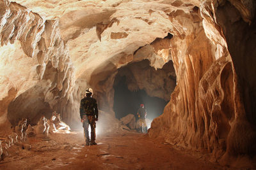
M 224 1 L 215 8 L 216 23 L 223 30 L 235 72 L 235 118 L 228 134 L 227 152 L 223 157 L 223 161 L 228 162 L 241 155 L 253 157 L 256 153 L 256 78 L 253 74 L 256 71 L 256 2 Z

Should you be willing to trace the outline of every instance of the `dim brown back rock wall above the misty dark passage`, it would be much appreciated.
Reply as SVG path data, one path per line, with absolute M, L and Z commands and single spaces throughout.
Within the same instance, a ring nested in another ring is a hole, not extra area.
M 118 69 L 115 83 L 118 84 L 118 81 L 125 76 L 125 83 L 130 91 L 144 89 L 149 96 L 170 101 L 170 95 L 176 86 L 176 75 L 172 60 L 166 63 L 162 69 L 157 70 L 150 67 L 149 64 L 148 60 L 142 60 Z

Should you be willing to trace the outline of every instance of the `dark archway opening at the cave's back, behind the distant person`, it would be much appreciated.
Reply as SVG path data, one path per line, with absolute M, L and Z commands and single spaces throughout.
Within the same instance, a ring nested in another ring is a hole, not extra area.
M 176 86 L 173 62 L 170 60 L 162 69 L 154 69 L 148 60 L 134 62 L 118 69 L 113 89 L 116 118 L 136 116 L 140 104 L 147 110 L 147 118 L 159 117 L 170 101 L 170 94 Z

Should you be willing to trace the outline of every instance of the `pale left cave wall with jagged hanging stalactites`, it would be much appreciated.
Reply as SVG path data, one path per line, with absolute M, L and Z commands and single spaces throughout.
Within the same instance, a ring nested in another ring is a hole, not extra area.
M 22 117 L 35 124 L 53 110 L 63 113 L 72 98 L 74 68 L 58 20 L 44 20 L 17 3 L 0 4 L 1 125 Z

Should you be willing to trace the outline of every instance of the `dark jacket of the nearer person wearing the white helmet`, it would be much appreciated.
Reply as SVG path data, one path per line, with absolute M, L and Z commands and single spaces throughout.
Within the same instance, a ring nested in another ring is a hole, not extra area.
M 97 101 L 93 97 L 84 97 L 80 103 L 80 117 L 83 115 L 95 115 L 96 118 L 99 116 Z

